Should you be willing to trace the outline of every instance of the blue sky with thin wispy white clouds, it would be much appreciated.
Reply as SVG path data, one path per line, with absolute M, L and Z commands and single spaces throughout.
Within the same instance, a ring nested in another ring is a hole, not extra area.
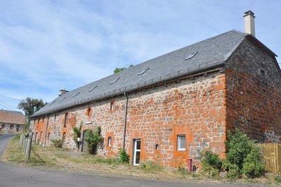
M 128 67 L 229 30 L 256 15 L 256 38 L 281 56 L 281 1 L 0 1 L 0 108 L 50 102 Z M 277 58 L 278 63 L 281 59 Z

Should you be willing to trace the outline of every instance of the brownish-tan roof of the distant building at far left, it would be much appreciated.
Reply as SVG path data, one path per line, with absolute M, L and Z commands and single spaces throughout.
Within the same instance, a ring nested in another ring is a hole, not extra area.
M 1 124 L 25 124 L 25 116 L 22 112 L 12 110 L 0 110 Z

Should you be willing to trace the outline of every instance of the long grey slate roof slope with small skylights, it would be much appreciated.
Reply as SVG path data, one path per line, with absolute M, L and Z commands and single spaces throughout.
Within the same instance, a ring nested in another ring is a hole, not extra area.
M 129 67 L 122 72 L 69 91 L 55 98 L 55 100 L 48 103 L 44 108 L 34 113 L 32 117 L 63 110 L 74 105 L 116 96 L 124 92 L 141 89 L 145 86 L 223 65 L 247 35 L 249 34 L 231 30 L 219 34 L 216 37 L 166 53 L 157 58 L 152 58 L 139 65 Z M 197 52 L 195 56 L 185 60 L 185 58 L 194 52 Z M 149 69 L 146 72 L 138 75 L 148 67 Z M 110 84 L 116 79 L 118 80 L 115 83 Z

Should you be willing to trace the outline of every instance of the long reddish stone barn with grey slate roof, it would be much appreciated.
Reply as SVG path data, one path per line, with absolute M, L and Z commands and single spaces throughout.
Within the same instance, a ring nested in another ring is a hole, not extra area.
M 245 16 L 253 16 L 250 11 Z M 227 130 L 259 142 L 281 142 L 281 71 L 275 53 L 256 37 L 231 30 L 72 91 L 31 120 L 34 141 L 46 146 L 65 137 L 76 149 L 73 127 L 101 127 L 98 155 L 167 167 L 195 165 L 198 151 L 226 153 Z M 80 151 L 86 150 L 82 142 Z

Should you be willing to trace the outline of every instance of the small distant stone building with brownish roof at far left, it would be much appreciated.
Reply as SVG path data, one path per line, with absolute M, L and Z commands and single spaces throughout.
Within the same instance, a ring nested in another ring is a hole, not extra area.
M 0 110 L 0 132 L 15 133 L 23 131 L 25 116 L 22 112 Z

